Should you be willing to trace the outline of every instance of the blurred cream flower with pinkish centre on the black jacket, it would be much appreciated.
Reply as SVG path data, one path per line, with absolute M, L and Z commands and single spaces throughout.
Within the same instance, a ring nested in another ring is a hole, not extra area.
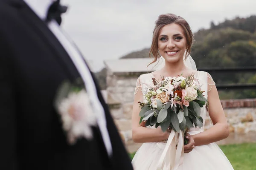
M 86 91 L 69 94 L 58 105 L 58 111 L 70 144 L 76 143 L 76 140 L 81 137 L 92 139 L 91 126 L 96 126 L 96 116 Z

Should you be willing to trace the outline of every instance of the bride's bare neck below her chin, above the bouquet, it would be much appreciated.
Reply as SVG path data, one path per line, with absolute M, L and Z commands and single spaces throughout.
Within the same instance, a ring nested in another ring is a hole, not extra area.
M 177 62 L 166 62 L 165 66 L 163 67 L 163 72 L 165 74 L 175 76 L 176 74 L 181 74 L 185 69 L 186 65 L 184 64 L 183 59 L 180 59 Z

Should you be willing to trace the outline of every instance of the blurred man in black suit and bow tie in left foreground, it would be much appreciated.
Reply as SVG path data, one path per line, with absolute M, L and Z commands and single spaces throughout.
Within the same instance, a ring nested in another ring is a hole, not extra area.
M 132 170 L 66 10 L 0 0 L 0 170 Z

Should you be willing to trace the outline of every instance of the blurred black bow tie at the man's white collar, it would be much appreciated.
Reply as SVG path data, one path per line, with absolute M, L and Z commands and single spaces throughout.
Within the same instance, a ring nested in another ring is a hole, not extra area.
M 67 6 L 61 6 L 60 0 L 56 0 L 48 9 L 46 21 L 56 20 L 61 25 L 61 14 L 67 11 Z

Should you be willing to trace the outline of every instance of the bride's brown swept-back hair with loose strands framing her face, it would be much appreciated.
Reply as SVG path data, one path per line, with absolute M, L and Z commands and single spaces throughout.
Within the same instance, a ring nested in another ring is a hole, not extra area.
M 152 55 L 154 57 L 154 60 L 149 65 L 153 64 L 154 62 L 157 61 L 158 58 L 161 57 L 160 53 L 158 52 L 158 36 L 161 28 L 163 28 L 163 26 L 167 24 L 172 24 L 172 23 L 175 23 L 182 27 L 186 37 L 186 44 L 188 46 L 186 51 L 186 57 L 190 53 L 192 42 L 194 40 L 194 35 L 192 33 L 192 30 L 188 22 L 183 17 L 177 16 L 175 14 L 162 14 L 162 15 L 159 15 L 158 19 L 155 22 L 156 25 L 154 27 L 152 44 L 149 51 L 149 57 L 151 57 Z

